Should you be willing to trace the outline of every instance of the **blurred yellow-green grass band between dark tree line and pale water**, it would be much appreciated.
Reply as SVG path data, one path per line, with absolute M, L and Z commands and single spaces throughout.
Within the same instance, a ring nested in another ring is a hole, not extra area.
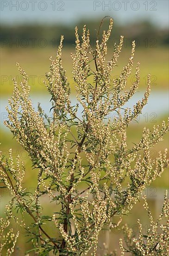
M 70 82 L 72 92 L 75 92 L 74 82 L 72 79 L 72 60 L 70 53 L 75 51 L 75 47 L 63 47 L 63 67 L 67 71 L 67 77 Z M 130 56 L 131 48 L 123 48 L 119 56 L 118 66 L 113 69 L 112 76 L 119 75 L 122 68 L 127 64 Z M 16 62 L 25 69 L 29 76 L 31 92 L 45 93 L 46 88 L 43 85 L 44 75 L 49 72 L 49 57 L 55 57 L 56 48 L 2 48 L 1 49 L 1 83 L 0 93 L 12 94 L 13 83 L 12 78 L 18 77 L 19 72 Z M 111 58 L 113 49 L 108 49 L 108 59 Z M 108 60 L 107 59 L 107 60 Z M 152 90 L 167 90 L 169 80 L 169 63 L 167 48 L 136 48 L 134 66 L 140 62 L 141 82 L 139 89 L 146 88 L 146 75 L 151 74 Z M 133 68 L 131 77 L 135 74 Z M 130 85 L 130 80 L 129 80 Z

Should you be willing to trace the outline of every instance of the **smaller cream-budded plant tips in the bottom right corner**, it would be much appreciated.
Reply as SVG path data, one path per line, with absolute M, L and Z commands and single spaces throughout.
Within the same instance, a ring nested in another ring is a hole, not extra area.
M 153 219 L 146 196 L 144 196 L 144 208 L 149 216 L 150 228 L 144 234 L 143 226 L 138 219 L 139 236 L 136 238 L 132 229 L 125 224 L 123 230 L 127 249 L 123 246 L 122 239 L 120 239 L 121 256 L 125 255 L 125 252 L 138 256 L 169 255 L 169 199 L 167 199 L 167 191 L 164 196 L 162 213 L 157 221 Z M 165 222 L 163 219 L 165 219 Z

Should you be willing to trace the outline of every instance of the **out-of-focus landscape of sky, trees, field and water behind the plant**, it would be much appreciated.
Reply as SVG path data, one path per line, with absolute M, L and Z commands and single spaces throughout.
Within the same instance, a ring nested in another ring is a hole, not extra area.
M 75 88 L 72 79 L 72 62 L 70 53 L 75 51 L 75 26 L 81 34 L 84 24 L 90 30 L 91 45 L 94 47 L 96 33 L 101 19 L 109 15 L 114 19 L 113 32 L 108 42 L 108 56 L 112 56 L 114 43 L 119 42 L 120 35 L 125 36 L 123 50 L 119 57 L 119 64 L 113 71 L 113 76 L 118 76 L 122 68 L 127 64 L 131 53 L 131 42 L 136 42 L 135 66 L 140 62 L 141 82 L 138 92 L 130 100 L 131 107 L 144 94 L 147 84 L 146 75 L 151 75 L 151 95 L 148 104 L 145 106 L 138 122 L 132 122 L 128 128 L 129 147 L 137 143 L 142 134 L 144 126 L 152 128 L 153 125 L 167 120 L 169 111 L 169 1 L 92 1 L 92 0 L 1 0 L 0 2 L 0 141 L 1 150 L 8 156 L 8 149 L 13 148 L 13 157 L 20 155 L 25 162 L 27 173 L 25 176 L 25 188 L 30 191 L 35 186 L 36 171 L 31 170 L 31 162 L 27 153 L 19 146 L 13 135 L 3 125 L 7 114 L 5 106 L 8 98 L 13 93 L 12 78 L 20 81 L 16 67 L 19 62 L 29 76 L 31 85 L 31 99 L 37 109 L 38 102 L 49 114 L 50 95 L 44 87 L 43 81 L 46 72 L 49 72 L 50 56 L 55 56 L 60 36 L 64 35 L 63 44 L 63 67 L 67 71 L 74 99 Z M 107 29 L 109 19 L 106 18 L 102 27 Z M 131 74 L 131 81 L 135 70 Z M 113 115 L 111 116 L 113 118 Z M 157 151 L 164 151 L 168 147 L 169 136 L 158 146 L 153 148 L 151 157 L 156 158 Z M 158 178 L 150 188 L 147 188 L 150 209 L 155 217 L 163 201 L 163 191 L 169 188 L 169 172 L 165 170 L 162 177 Z M 31 192 L 31 191 L 30 191 Z M 1 215 L 5 209 L 10 195 L 6 190 L 1 190 L 0 210 Z M 50 215 L 50 207 L 46 200 L 46 214 Z M 125 217 L 133 231 L 137 234 L 137 219 L 143 222 L 145 230 L 148 228 L 145 211 L 142 201 L 132 210 L 133 214 Z M 28 220 L 29 221 L 29 220 Z M 16 225 L 14 229 L 19 229 Z M 51 227 L 46 227 L 53 234 Z M 51 229 L 51 230 L 50 230 Z M 111 234 L 104 231 L 100 236 L 100 246 L 106 241 L 109 245 L 109 252 L 118 249 L 121 230 L 114 230 Z M 54 236 L 54 235 L 53 235 Z M 22 256 L 26 249 L 31 249 L 31 243 L 26 243 L 21 232 L 17 249 L 14 255 Z M 113 241 L 113 242 L 111 242 Z M 31 255 L 31 254 L 30 254 Z M 34 255 L 34 254 L 32 254 Z M 99 249 L 98 255 L 103 255 Z

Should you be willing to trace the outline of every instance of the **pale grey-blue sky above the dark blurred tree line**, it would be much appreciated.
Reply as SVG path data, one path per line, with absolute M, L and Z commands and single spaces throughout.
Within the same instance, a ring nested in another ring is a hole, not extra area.
M 168 27 L 169 0 L 1 0 L 1 23 L 62 23 L 79 19 L 112 16 L 122 24 L 150 19 L 159 27 Z

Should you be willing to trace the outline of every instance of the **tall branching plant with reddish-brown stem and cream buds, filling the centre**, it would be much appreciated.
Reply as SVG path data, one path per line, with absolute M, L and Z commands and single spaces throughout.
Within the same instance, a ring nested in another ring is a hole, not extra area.
M 35 255 L 97 255 L 100 231 L 105 225 L 110 229 L 118 227 L 121 217 L 131 211 L 144 189 L 169 164 L 167 150 L 164 154 L 159 152 L 156 159 L 150 158 L 150 149 L 163 140 L 163 135 L 169 130 L 169 125 L 164 121 L 154 126 L 152 131 L 144 128 L 140 141 L 132 148 L 127 145 L 127 127 L 131 121 L 137 120 L 148 101 L 150 75 L 143 99 L 132 109 L 124 108 L 138 89 L 139 63 L 136 66 L 135 81 L 125 90 L 133 67 L 133 41 L 128 64 L 122 69 L 119 78 L 112 79 L 112 70 L 117 66 L 124 39 L 120 37 L 119 45 L 114 46 L 112 58 L 107 61 L 107 42 L 112 27 L 113 19 L 110 19 L 109 28 L 107 32 L 103 31 L 101 39 L 99 28 L 95 47 L 90 45 L 86 26 L 83 27 L 81 39 L 75 27 L 75 54 L 71 54 L 78 101 L 75 106 L 71 104 L 70 86 L 62 66 L 61 36 L 56 58 L 50 58 L 50 72 L 44 81 L 51 94 L 52 117 L 44 114 L 40 105 L 38 111 L 32 107 L 28 75 L 17 63 L 23 81 L 18 84 L 13 79 L 14 91 L 9 100 L 10 107 L 6 108 L 8 120 L 5 124 L 29 153 L 32 168 L 38 169 L 38 176 L 35 177 L 35 191 L 25 192 L 24 162 L 20 162 L 19 157 L 13 160 L 12 149 L 9 150 L 9 159 L 1 155 L 0 181 L 2 188 L 7 188 L 12 195 L 11 202 L 6 206 L 6 218 L 0 219 L 1 253 L 6 247 L 7 255 L 14 252 L 19 237 L 19 232 L 15 234 L 10 228 L 10 220 L 14 219 L 31 237 L 32 249 L 25 252 L 26 255 L 32 251 Z M 81 115 L 77 114 L 79 105 L 83 108 Z M 123 115 L 120 109 L 124 110 Z M 113 120 L 107 118 L 114 111 L 118 116 Z M 51 204 L 55 202 L 57 206 L 51 208 L 50 216 L 43 213 L 45 202 L 41 199 L 44 195 L 50 199 Z M 165 198 L 163 213 L 167 218 L 169 216 L 164 209 L 168 205 Z M 15 207 L 21 212 L 22 219 L 13 211 Z M 26 215 L 31 217 L 31 225 L 25 221 Z M 117 216 L 119 220 L 115 221 Z M 156 226 L 153 220 L 151 222 Z M 49 223 L 56 226 L 56 234 L 52 236 L 49 229 L 44 229 L 44 225 L 48 227 Z M 153 251 L 154 254 L 147 254 L 143 234 L 140 233 L 138 240 L 133 238 L 131 241 L 131 234 L 127 231 L 125 226 L 128 252 L 131 254 L 155 255 L 160 249 L 160 255 L 164 255 L 164 251 L 165 255 L 169 253 L 167 243 L 158 243 L 158 248 L 152 243 L 152 247 L 157 249 Z M 163 231 L 169 237 L 169 226 Z M 153 232 L 156 232 L 155 229 Z M 154 239 L 158 238 L 154 236 Z M 149 234 L 147 243 L 148 239 Z M 122 240 L 120 247 L 124 255 Z

